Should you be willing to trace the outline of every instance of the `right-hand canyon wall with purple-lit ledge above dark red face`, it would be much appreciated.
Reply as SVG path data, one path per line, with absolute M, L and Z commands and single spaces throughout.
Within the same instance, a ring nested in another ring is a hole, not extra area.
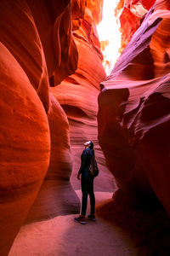
M 99 144 L 128 199 L 170 214 L 168 1 L 156 1 L 99 95 Z

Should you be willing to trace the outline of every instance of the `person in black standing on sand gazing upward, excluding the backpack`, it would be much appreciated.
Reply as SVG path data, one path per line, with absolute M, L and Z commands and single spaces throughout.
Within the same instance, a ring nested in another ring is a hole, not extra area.
M 94 143 L 88 141 L 84 143 L 85 149 L 81 155 L 81 166 L 77 174 L 77 178 L 80 179 L 82 185 L 82 211 L 81 215 L 75 220 L 81 224 L 86 224 L 86 210 L 88 205 L 88 195 L 90 196 L 91 213 L 88 215 L 89 220 L 95 219 L 95 197 L 94 197 L 94 176 L 89 172 L 92 157 L 94 155 Z

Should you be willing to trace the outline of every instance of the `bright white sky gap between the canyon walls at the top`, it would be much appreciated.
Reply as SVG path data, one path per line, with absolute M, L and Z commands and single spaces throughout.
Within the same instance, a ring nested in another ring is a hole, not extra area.
M 107 75 L 111 73 L 120 55 L 118 50 L 121 47 L 121 32 L 115 17 L 116 4 L 116 0 L 104 0 L 103 19 L 97 26 L 101 48 L 103 48 L 102 45 L 107 44 L 105 49 L 102 50 L 104 55 L 103 65 Z M 103 41 L 105 42 L 103 43 Z

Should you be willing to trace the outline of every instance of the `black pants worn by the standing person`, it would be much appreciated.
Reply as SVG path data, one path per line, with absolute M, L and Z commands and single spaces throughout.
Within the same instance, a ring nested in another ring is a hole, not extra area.
M 88 205 L 88 195 L 90 196 L 90 207 L 91 214 L 95 212 L 95 197 L 94 197 L 94 177 L 92 177 L 89 172 L 82 173 L 81 177 L 82 183 L 82 215 L 86 215 L 87 205 Z

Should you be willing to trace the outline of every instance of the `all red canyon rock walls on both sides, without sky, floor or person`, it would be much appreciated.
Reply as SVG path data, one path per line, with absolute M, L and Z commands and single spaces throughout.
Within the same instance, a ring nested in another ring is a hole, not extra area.
M 97 189 L 110 187 L 106 159 L 122 197 L 156 195 L 170 213 L 170 5 L 118 2 L 122 55 L 108 78 L 96 30 L 102 7 L 0 2 L 1 255 L 26 219 L 79 211 L 70 177 L 88 139 L 105 177 Z

